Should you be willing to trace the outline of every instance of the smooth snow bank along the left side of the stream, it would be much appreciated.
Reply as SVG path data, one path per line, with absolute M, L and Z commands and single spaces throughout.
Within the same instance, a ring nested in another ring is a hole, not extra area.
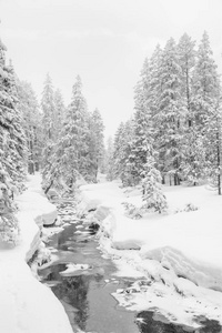
M 18 196 L 20 242 L 16 248 L 0 243 L 0 332 L 71 333 L 62 304 L 31 273 L 27 261 L 41 246 L 42 223 L 51 223 L 56 208 L 41 192 L 40 175 L 29 176 L 28 190 Z

